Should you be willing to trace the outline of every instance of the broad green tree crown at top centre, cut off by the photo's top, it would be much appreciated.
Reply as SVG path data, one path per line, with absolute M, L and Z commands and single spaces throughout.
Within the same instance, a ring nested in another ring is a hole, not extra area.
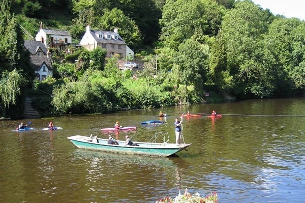
M 212 0 L 170 0 L 163 7 L 160 36 L 166 47 L 177 50 L 180 43 L 196 31 L 216 36 L 225 9 Z

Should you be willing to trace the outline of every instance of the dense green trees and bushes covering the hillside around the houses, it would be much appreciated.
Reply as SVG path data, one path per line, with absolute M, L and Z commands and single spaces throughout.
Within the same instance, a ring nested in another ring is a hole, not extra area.
M 116 57 L 105 59 L 100 47 L 51 49 L 54 78 L 32 86 L 19 24 L 35 36 L 41 21 L 70 31 L 73 42 L 87 24 L 117 27 L 144 70 L 120 71 Z M 274 16 L 250 0 L 4 0 L 0 22 L 2 86 L 13 73 L 24 78 L 20 93 L 17 86 L 2 92 L 2 114 L 22 101 L 26 81 L 45 115 L 196 103 L 210 91 L 237 99 L 304 94 L 305 22 Z

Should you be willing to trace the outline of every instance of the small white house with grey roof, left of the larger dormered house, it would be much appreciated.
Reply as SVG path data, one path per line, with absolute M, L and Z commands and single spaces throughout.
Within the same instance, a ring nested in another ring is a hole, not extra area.
M 42 42 L 46 48 L 65 50 L 72 43 L 72 36 L 68 31 L 50 30 L 43 27 L 41 22 L 36 41 Z

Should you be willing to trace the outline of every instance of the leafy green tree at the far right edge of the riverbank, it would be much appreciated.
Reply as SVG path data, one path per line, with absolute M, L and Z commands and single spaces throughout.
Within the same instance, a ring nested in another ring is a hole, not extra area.
M 270 26 L 265 38 L 265 61 L 273 73 L 276 95 L 293 93 L 302 86 L 302 64 L 304 62 L 304 23 L 296 18 L 277 18 Z M 303 84 L 304 85 L 304 84 Z

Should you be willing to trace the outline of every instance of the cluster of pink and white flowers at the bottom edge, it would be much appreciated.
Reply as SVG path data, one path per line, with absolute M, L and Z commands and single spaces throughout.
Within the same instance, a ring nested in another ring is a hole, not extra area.
M 216 192 L 212 192 L 206 197 L 201 197 L 198 192 L 196 192 L 194 195 L 191 195 L 188 192 L 188 188 L 187 188 L 183 195 L 181 195 L 180 191 L 179 191 L 178 196 L 176 196 L 175 198 L 163 197 L 163 198 L 160 198 L 158 201 L 156 201 L 156 203 L 162 203 L 162 202 L 166 202 L 166 203 L 182 203 L 182 202 L 184 202 L 184 203 L 187 203 L 187 202 L 189 202 L 189 203 L 219 203 L 219 199 L 218 199 Z

